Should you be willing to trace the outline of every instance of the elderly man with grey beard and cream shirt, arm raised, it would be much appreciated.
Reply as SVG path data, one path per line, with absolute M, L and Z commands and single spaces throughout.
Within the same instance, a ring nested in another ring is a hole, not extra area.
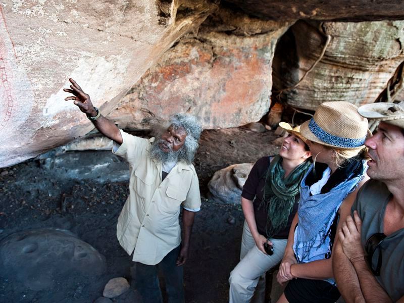
M 144 303 L 162 302 L 162 270 L 169 302 L 184 302 L 182 265 L 188 257 L 195 212 L 200 209 L 198 178 L 192 165 L 201 127 L 193 116 L 176 114 L 151 139 L 120 130 L 100 114 L 81 87 L 64 91 L 100 133 L 113 140 L 113 153 L 130 168 L 129 197 L 118 218 L 117 237 L 134 261 L 134 283 Z M 159 138 L 160 137 L 160 138 Z M 183 237 L 179 214 L 182 206 Z

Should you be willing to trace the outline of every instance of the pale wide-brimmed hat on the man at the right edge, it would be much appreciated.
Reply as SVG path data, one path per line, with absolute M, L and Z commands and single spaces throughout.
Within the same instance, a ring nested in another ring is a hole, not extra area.
M 404 128 L 404 102 L 371 103 L 361 106 L 358 113 L 365 118 L 383 121 L 388 124 Z

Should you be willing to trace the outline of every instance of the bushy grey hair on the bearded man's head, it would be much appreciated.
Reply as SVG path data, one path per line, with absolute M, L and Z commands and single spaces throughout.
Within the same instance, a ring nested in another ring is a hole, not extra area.
M 183 160 L 188 164 L 192 163 L 196 149 L 199 146 L 200 133 L 202 132 L 202 127 L 197 118 L 191 115 L 175 114 L 170 117 L 168 123 L 176 130 L 181 127 L 185 129 L 185 142 L 179 150 L 178 160 Z

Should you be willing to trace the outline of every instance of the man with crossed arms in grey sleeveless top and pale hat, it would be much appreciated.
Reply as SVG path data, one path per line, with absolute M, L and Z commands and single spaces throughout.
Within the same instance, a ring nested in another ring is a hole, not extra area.
M 338 231 L 334 275 L 346 302 L 404 302 L 404 104 L 358 112 L 380 124 L 365 142 L 371 179 Z

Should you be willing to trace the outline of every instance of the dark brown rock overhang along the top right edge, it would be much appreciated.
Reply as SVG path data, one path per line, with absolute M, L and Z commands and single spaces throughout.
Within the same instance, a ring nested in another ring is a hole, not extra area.
M 268 20 L 377 21 L 404 19 L 401 0 L 226 0 L 244 12 Z

